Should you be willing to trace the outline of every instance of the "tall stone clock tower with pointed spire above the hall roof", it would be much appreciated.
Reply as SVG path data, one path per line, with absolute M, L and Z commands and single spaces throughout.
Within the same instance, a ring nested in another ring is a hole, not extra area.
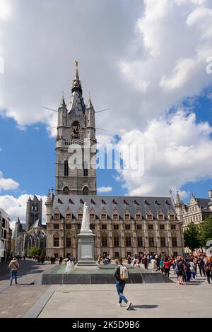
M 84 104 L 76 61 L 69 105 L 62 97 L 58 109 L 55 194 L 96 195 L 95 145 L 95 110 L 90 97 Z

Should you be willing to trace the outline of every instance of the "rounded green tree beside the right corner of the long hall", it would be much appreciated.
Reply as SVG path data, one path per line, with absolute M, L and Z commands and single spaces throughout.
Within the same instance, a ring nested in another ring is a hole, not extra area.
M 201 247 L 200 229 L 198 225 L 189 223 L 187 229 L 184 231 L 184 245 L 192 251 Z

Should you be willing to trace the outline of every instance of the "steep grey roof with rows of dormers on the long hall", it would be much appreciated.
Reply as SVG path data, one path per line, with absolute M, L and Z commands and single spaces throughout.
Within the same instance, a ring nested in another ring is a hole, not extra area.
M 143 218 L 146 212 L 153 213 L 153 218 L 157 218 L 158 212 L 162 211 L 165 218 L 172 210 L 175 213 L 175 206 L 172 205 L 170 197 L 136 197 L 136 196 L 93 196 L 93 195 L 55 195 L 53 199 L 54 211 L 59 211 L 65 216 L 69 208 L 73 216 L 77 218 L 79 209 L 83 209 L 83 203 L 87 203 L 88 208 L 92 208 L 95 215 L 100 218 L 102 209 L 105 210 L 109 218 L 112 218 L 113 211 L 119 213 L 120 218 L 124 218 L 125 211 L 128 211 L 131 218 L 134 218 L 136 211 L 140 211 Z M 176 215 L 176 213 L 175 213 Z

